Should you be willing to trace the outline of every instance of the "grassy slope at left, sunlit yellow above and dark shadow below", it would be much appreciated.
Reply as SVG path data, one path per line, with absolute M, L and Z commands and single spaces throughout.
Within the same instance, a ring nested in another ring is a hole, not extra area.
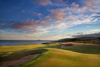
M 45 44 L 30 44 L 30 45 L 14 45 L 14 46 L 0 46 L 0 62 L 7 60 L 15 60 L 21 57 L 41 53 L 40 49 L 48 46 L 55 46 L 59 43 Z

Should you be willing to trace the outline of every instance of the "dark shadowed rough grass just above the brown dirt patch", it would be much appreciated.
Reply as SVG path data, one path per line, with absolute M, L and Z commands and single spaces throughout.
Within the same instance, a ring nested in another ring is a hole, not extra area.
M 8 60 L 16 60 L 19 58 L 22 58 L 27 55 L 34 55 L 34 54 L 40 54 L 47 51 L 46 49 L 38 49 L 38 50 L 21 50 L 14 52 L 8 56 L 0 56 L 0 62 L 2 61 L 8 61 Z

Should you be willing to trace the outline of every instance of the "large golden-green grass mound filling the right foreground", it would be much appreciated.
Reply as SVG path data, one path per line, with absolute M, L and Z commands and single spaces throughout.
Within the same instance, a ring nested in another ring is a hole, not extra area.
M 69 50 L 47 48 L 48 54 L 39 57 L 39 60 L 24 64 L 26 67 L 100 67 L 100 55 L 77 53 Z M 33 63 L 32 63 L 33 62 Z

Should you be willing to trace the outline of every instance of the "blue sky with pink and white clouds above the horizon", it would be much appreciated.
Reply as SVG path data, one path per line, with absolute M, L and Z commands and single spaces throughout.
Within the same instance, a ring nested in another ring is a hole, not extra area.
M 58 40 L 98 33 L 100 0 L 0 0 L 0 40 Z

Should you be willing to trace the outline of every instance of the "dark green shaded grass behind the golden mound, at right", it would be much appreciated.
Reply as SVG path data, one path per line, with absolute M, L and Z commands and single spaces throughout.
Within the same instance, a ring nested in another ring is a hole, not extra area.
M 70 50 L 78 53 L 87 53 L 87 54 L 100 54 L 100 46 L 95 45 L 77 45 L 68 48 L 62 48 L 64 50 Z

